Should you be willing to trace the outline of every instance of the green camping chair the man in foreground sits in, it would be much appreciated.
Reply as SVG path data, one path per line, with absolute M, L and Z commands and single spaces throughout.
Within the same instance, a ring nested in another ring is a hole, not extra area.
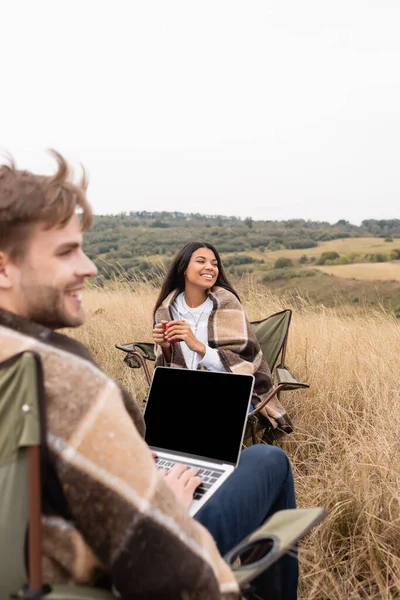
M 42 367 L 36 353 L 21 352 L 0 363 L 0 599 L 112 600 L 118 597 L 117 592 L 43 584 L 43 402 Z M 226 555 L 243 598 L 251 597 L 251 581 L 294 547 L 325 515 L 323 508 L 279 511 Z M 234 566 L 242 555 L 246 555 L 246 564 Z

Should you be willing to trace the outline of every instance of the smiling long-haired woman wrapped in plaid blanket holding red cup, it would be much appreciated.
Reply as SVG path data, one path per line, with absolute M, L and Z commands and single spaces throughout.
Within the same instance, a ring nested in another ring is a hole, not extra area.
M 154 308 L 153 340 L 156 366 L 250 373 L 257 397 L 272 386 L 254 330 L 212 244 L 192 242 L 175 256 Z

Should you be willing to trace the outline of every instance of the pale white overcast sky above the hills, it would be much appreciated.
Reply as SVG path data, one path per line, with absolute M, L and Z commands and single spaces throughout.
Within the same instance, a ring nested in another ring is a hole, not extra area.
M 12 0 L 0 146 L 96 213 L 400 217 L 399 0 Z

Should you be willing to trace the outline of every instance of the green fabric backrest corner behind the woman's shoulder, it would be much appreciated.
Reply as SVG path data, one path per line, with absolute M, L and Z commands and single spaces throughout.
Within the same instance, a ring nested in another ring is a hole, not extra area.
M 281 363 L 285 360 L 286 341 L 289 333 L 292 311 L 287 308 L 270 315 L 262 321 L 252 321 L 264 358 L 272 372 L 282 352 Z

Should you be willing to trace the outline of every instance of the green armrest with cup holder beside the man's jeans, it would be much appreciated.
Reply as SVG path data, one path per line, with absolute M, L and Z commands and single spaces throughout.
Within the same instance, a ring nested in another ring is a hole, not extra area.
M 242 590 L 281 556 L 295 550 L 297 542 L 327 516 L 325 508 L 298 508 L 276 512 L 261 527 L 224 556 Z M 243 563 L 234 567 L 238 558 Z

